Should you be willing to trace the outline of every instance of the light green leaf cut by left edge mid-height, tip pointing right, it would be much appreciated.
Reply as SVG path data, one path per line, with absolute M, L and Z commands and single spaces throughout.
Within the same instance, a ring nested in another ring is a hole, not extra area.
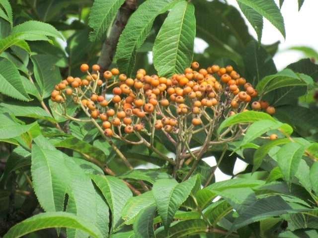
M 28 131 L 33 126 L 37 125 L 37 122 L 33 122 L 28 125 L 21 125 L 15 122 L 8 114 L 0 114 L 0 139 L 9 139 L 21 135 Z

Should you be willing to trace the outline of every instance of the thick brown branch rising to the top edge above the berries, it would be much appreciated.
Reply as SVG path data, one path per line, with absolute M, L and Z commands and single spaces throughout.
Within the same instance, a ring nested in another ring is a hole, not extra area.
M 119 37 L 136 8 L 136 0 L 125 0 L 124 4 L 119 8 L 110 34 L 102 46 L 100 57 L 97 61 L 101 72 L 107 70 L 112 63 Z

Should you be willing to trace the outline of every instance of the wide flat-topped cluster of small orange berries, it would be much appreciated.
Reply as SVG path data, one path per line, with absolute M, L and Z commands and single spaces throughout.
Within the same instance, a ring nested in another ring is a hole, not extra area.
M 60 104 L 67 96 L 73 97 L 91 118 L 100 119 L 106 136 L 118 138 L 124 138 L 123 133 L 155 129 L 186 133 L 195 126 L 205 127 L 246 111 L 252 98 L 258 96 L 231 65 L 199 69 L 199 63 L 193 62 L 183 74 L 169 78 L 150 76 L 139 69 L 135 79 L 113 68 L 103 73 L 105 81 L 97 64 L 92 66 L 93 73 L 87 64 L 82 64 L 80 69 L 87 73 L 86 78 L 69 76 L 55 86 L 51 100 Z M 112 89 L 112 94 L 107 89 Z M 266 101 L 255 100 L 250 107 L 270 115 L 275 113 Z

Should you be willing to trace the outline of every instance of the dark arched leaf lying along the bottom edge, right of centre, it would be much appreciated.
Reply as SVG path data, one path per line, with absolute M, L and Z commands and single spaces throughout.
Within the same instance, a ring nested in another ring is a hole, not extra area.
M 156 238 L 181 238 L 187 237 L 189 234 L 201 232 L 208 232 L 206 222 L 203 219 L 193 219 L 172 223 L 168 236 L 163 228 L 160 227 L 156 230 Z

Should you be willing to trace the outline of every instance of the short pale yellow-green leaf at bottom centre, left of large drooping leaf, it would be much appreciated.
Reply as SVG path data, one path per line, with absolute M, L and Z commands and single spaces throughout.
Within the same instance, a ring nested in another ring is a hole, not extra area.
M 121 216 L 125 220 L 125 224 L 133 224 L 138 213 L 153 204 L 155 204 L 155 199 L 152 191 L 147 191 L 140 196 L 129 198 L 121 211 Z

